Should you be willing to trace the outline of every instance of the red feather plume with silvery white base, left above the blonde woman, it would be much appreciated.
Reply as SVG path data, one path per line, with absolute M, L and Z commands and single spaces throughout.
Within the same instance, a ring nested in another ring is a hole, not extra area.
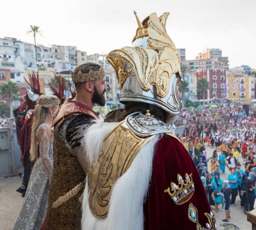
M 24 80 L 31 88 L 31 90 L 27 89 L 28 98 L 31 101 L 37 101 L 42 94 L 40 91 L 39 73 L 37 72 L 37 75 L 35 75 L 35 72 L 32 71 L 32 73 L 28 73 L 29 82 L 25 78 Z

